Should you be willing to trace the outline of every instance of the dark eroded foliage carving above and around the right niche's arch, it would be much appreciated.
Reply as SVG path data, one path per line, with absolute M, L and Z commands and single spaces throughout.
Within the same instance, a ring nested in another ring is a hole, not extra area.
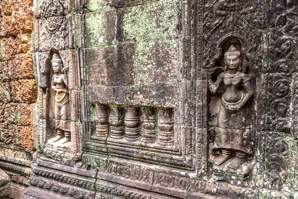
M 256 58 L 262 57 L 263 47 L 260 45 L 261 31 L 248 31 L 251 27 L 257 28 L 262 24 L 261 1 L 246 0 L 219 0 L 208 1 L 205 4 L 204 13 L 204 53 L 203 67 L 211 68 L 214 65 L 214 57 L 216 56 L 215 41 L 218 41 L 229 32 L 235 31 L 240 26 L 245 29 L 243 36 L 247 41 L 251 41 L 247 52 L 254 54 Z M 241 21 L 241 22 L 240 22 Z M 249 39 L 248 39 L 249 38 Z M 260 61 L 260 59 L 255 59 Z M 259 63 L 258 63 L 259 64 Z M 258 64 L 256 66 L 258 66 Z

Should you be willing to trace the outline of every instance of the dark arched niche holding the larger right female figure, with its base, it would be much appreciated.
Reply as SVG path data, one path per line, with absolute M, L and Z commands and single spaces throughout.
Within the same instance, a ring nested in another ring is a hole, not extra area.
M 255 163 L 256 75 L 245 40 L 228 33 L 217 43 L 209 69 L 209 161 L 224 181 L 248 179 Z M 235 175 L 238 174 L 238 175 Z

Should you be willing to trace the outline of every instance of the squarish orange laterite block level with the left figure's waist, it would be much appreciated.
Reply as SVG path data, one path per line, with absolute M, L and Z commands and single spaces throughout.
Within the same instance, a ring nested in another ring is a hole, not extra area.
M 34 79 L 11 82 L 11 98 L 14 102 L 34 103 L 37 98 L 37 86 Z

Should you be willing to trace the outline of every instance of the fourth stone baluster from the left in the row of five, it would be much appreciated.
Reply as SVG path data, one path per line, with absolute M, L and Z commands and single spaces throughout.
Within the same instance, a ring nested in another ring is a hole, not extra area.
M 143 142 L 151 143 L 155 141 L 155 118 L 154 108 L 142 107 L 142 134 L 141 139 Z

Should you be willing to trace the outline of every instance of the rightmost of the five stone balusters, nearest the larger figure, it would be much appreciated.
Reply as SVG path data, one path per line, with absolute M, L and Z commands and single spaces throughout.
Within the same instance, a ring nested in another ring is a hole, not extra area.
M 174 122 L 172 108 L 161 108 L 158 111 L 157 140 L 160 145 L 172 145 L 174 143 Z

